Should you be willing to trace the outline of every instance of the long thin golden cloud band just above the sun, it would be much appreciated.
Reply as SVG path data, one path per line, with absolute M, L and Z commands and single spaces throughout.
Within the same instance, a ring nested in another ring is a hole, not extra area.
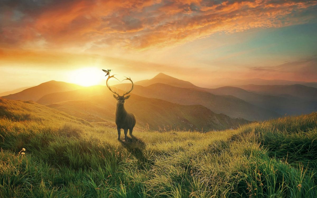
M 32 65 L 38 69 L 77 69 L 78 67 L 90 67 L 98 61 L 99 65 L 116 67 L 116 70 L 128 73 L 159 73 L 172 72 L 186 74 L 182 72 L 181 67 L 167 64 L 152 63 L 147 61 L 137 61 L 125 58 L 114 58 L 109 56 L 100 56 L 98 54 L 70 54 L 70 53 L 52 53 L 44 51 L 20 51 L 20 50 L 0 50 L 0 68 L 12 62 L 15 65 Z M 67 66 L 67 67 L 65 67 Z

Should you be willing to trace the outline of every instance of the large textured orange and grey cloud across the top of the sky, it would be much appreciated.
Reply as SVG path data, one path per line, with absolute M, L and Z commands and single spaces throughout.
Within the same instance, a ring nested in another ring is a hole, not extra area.
M 316 0 L 4 0 L 0 47 L 160 48 L 217 32 L 305 23 L 316 16 L 316 5 Z

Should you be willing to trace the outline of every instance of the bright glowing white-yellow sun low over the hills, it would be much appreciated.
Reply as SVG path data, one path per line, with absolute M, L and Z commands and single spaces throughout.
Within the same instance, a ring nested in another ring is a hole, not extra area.
M 93 86 L 100 84 L 103 72 L 96 67 L 84 67 L 69 73 L 69 81 L 81 86 Z

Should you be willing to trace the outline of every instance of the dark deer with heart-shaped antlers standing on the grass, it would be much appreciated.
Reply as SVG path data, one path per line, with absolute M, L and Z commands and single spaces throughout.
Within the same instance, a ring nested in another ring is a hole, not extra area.
M 133 131 L 133 127 L 135 126 L 136 123 L 136 118 L 132 113 L 129 113 L 126 111 L 126 109 L 124 108 L 124 104 L 126 103 L 126 99 L 130 98 L 131 95 L 126 96 L 127 94 L 129 94 L 132 90 L 133 90 L 133 81 L 131 80 L 131 78 L 126 77 L 126 79 L 124 80 L 130 80 L 132 83 L 132 88 L 130 89 L 130 91 L 123 93 L 122 96 L 119 95 L 119 93 L 113 91 L 111 89 L 111 87 L 108 84 L 108 80 L 110 78 L 115 78 L 114 75 L 109 76 L 107 78 L 106 84 L 108 89 L 116 94 L 113 94 L 113 98 L 115 98 L 117 100 L 117 107 L 116 107 L 116 111 L 115 111 L 115 118 L 116 118 L 116 125 L 117 125 L 117 130 L 118 130 L 118 140 L 120 141 L 120 133 L 121 133 L 121 129 L 124 130 L 124 140 L 127 141 L 127 133 L 129 130 L 129 134 L 132 137 L 132 131 Z M 118 80 L 118 79 L 117 79 Z M 123 81 L 123 80 L 122 80 Z M 121 81 L 121 82 L 122 82 Z

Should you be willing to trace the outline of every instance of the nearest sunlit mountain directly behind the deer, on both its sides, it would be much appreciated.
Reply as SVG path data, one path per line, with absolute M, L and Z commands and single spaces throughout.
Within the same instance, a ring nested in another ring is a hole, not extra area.
M 51 93 L 37 102 L 89 122 L 114 121 L 116 100 L 105 86 Z M 149 125 L 152 130 L 164 129 L 164 126 L 168 126 L 169 129 L 178 127 L 186 130 L 201 130 L 203 128 L 209 131 L 237 127 L 248 122 L 244 119 L 232 119 L 223 114 L 216 114 L 201 105 L 179 105 L 134 94 L 126 101 L 125 107 L 128 112 L 136 116 L 137 126 Z

